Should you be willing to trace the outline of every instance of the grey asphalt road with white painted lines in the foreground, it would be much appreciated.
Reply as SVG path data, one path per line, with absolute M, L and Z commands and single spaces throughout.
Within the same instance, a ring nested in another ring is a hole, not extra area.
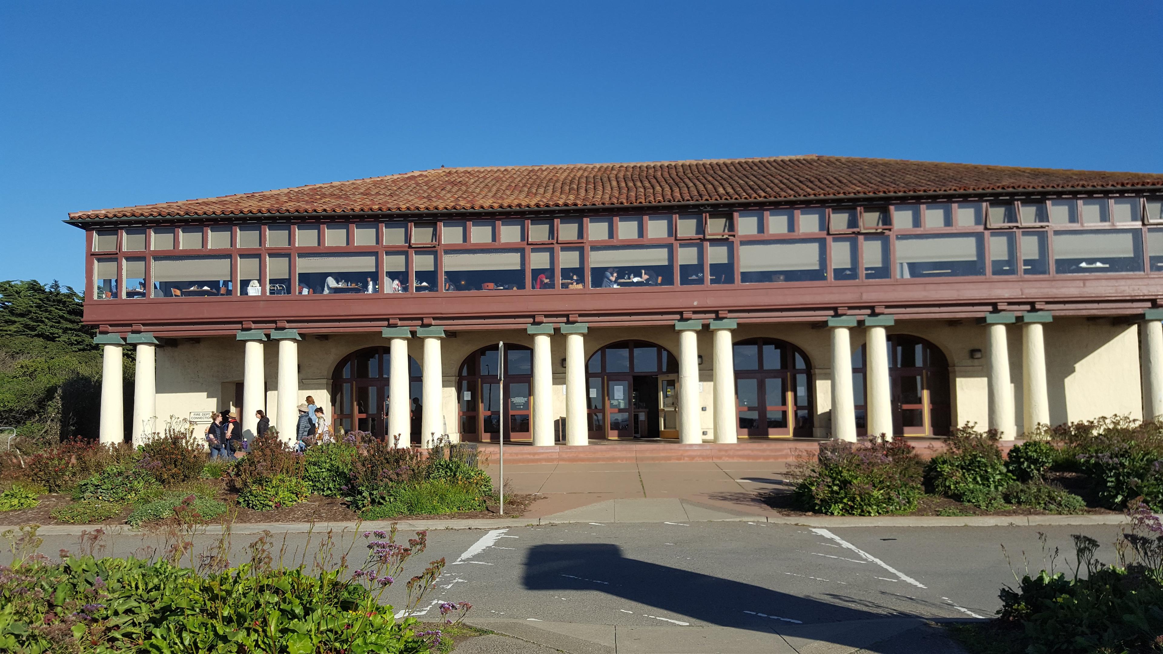
M 1103 543 L 1111 561 L 1116 526 L 1087 527 L 837 527 L 813 529 L 763 523 L 588 524 L 429 533 L 428 550 L 411 566 L 444 557 L 438 588 L 420 606 L 438 619 L 435 602 L 466 600 L 472 617 L 626 626 L 722 626 L 770 631 L 783 624 L 877 618 L 992 617 L 998 589 L 1013 571 L 1072 569 L 1070 534 Z M 1039 532 L 1048 536 L 1044 553 Z M 363 561 L 365 541 L 348 534 L 336 557 Z M 411 534 L 402 534 L 405 538 Z M 231 561 L 247 559 L 252 534 L 236 534 Z M 76 536 L 44 536 L 41 550 L 78 549 Z M 201 550 L 216 536 L 201 536 Z M 276 534 L 272 554 L 315 555 L 321 534 Z M 336 540 L 338 538 L 336 536 Z M 284 545 L 285 542 L 285 545 Z M 1011 562 L 1003 554 L 1008 552 Z M 165 548 L 164 536 L 105 536 L 109 555 Z M 10 559 L 5 553 L 2 560 Z M 1013 571 L 1012 571 L 1013 570 Z M 385 599 L 402 606 L 402 583 Z

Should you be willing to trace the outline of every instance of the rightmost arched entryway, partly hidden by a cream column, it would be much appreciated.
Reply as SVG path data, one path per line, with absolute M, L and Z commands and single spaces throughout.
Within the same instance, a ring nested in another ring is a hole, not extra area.
M 866 433 L 868 375 L 864 346 L 852 353 L 852 394 L 856 431 Z M 941 348 L 908 334 L 889 335 L 889 377 L 892 385 L 892 431 L 906 436 L 946 436 L 952 413 L 949 361 Z

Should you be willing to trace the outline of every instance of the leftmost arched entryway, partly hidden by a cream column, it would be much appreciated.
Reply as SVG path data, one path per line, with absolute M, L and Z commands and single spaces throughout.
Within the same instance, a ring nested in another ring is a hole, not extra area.
M 343 357 L 331 372 L 331 420 L 343 431 L 368 432 L 384 438 L 387 426 L 388 348 L 374 347 Z M 421 408 L 420 364 L 408 357 L 408 398 L 412 405 L 412 441 L 419 442 Z

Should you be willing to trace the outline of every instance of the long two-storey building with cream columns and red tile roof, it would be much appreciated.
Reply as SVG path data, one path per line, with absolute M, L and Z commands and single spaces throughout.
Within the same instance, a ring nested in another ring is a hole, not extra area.
M 311 394 L 418 443 L 495 440 L 504 401 L 514 440 L 580 446 L 1157 417 L 1161 207 L 1163 175 L 800 156 L 438 169 L 69 222 L 106 370 L 137 350 L 135 440 L 227 405 L 290 427 Z

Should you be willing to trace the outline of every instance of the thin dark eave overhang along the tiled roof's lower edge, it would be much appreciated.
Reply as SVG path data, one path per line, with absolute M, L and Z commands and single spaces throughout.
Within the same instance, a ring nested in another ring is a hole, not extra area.
M 688 200 L 682 202 L 650 202 L 650 204 L 629 204 L 629 205 L 578 205 L 578 206 L 548 206 L 548 207 L 495 207 L 495 208 L 465 208 L 465 209 L 385 209 L 385 211 L 336 211 L 336 212 L 262 212 L 262 213 L 202 213 L 202 214 L 181 214 L 181 215 L 123 215 L 123 216 L 101 216 L 101 218 L 72 218 L 70 216 L 65 222 L 66 225 L 73 225 L 76 227 L 83 227 L 85 225 L 94 223 L 120 223 L 120 222 L 136 222 L 142 220 L 198 220 L 198 219 L 244 219 L 244 220 L 292 220 L 295 218 L 324 218 L 331 215 L 399 215 L 399 216 L 457 216 L 457 215 L 481 215 L 481 214 L 514 214 L 514 213 L 540 213 L 540 214 L 564 214 L 564 213 L 578 213 L 578 212 L 594 212 L 600 211 L 602 213 L 616 213 L 619 209 L 662 209 L 662 208 L 675 208 L 675 207 L 728 207 L 739 205 L 766 205 L 766 204 L 800 204 L 800 202 L 863 202 L 863 201 L 880 201 L 891 202 L 899 200 L 920 200 L 920 199 L 944 199 L 944 198 L 965 198 L 965 197 L 1008 197 L 1008 196 L 1048 196 L 1048 194 L 1089 194 L 1089 193 L 1140 193 L 1140 192 L 1153 192 L 1163 191 L 1163 185 L 1142 185 L 1142 186 L 1086 186 L 1086 187 L 1051 187 L 1051 189 L 987 189 L 987 190 L 972 190 L 972 191 L 923 191 L 923 192 L 908 192 L 908 193 L 864 193 L 864 194 L 851 194 L 851 196 L 800 196 L 790 198 L 749 198 L 742 200 Z

